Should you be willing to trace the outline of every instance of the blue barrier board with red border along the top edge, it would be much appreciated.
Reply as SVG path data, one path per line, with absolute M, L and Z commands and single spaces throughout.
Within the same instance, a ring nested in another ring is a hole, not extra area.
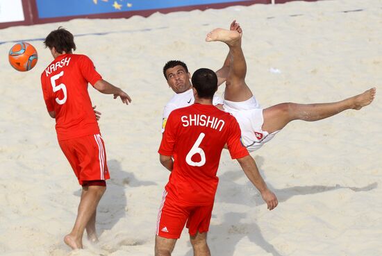
M 210 8 L 225 8 L 227 6 L 250 6 L 255 3 L 272 3 L 272 0 L 0 0 L 1 5 L 8 1 L 22 1 L 24 20 L 11 21 L 1 19 L 0 28 L 19 25 L 32 25 L 49 22 L 65 22 L 78 18 L 128 18 L 133 15 L 147 17 L 153 12 L 175 12 L 188 10 L 206 10 Z M 275 0 L 275 3 L 285 3 L 297 0 Z M 319 1 L 319 0 L 304 0 Z M 15 10 L 20 12 L 21 10 Z M 12 13 L 11 13 L 12 14 Z M 8 15 L 8 13 L 7 13 Z M 19 15 L 14 13 L 14 15 Z

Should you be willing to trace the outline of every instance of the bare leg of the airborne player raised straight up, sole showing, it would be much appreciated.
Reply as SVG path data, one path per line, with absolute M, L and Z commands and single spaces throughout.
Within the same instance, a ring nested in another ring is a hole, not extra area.
M 206 37 L 207 42 L 219 41 L 229 46 L 230 66 L 224 91 L 224 99 L 227 101 L 247 101 L 253 96 L 251 89 L 245 83 L 247 63 L 242 52 L 241 38 L 241 28 L 235 31 L 216 28 Z

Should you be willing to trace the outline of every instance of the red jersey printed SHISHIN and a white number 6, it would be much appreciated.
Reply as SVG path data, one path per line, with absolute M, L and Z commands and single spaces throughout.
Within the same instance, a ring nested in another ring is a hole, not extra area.
M 169 115 L 158 153 L 174 157 L 168 196 L 187 205 L 215 199 L 220 155 L 227 144 L 233 159 L 248 155 L 236 119 L 213 105 L 194 104 Z

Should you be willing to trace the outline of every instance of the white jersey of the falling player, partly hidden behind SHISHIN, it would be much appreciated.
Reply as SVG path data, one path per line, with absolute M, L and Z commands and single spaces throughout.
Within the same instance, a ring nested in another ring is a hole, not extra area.
M 163 117 L 162 117 L 162 133 L 165 131 L 165 126 L 167 122 L 167 118 L 169 117 L 169 113 L 172 112 L 172 110 L 176 110 L 178 108 L 185 108 L 189 105 L 194 104 L 194 92 L 192 92 L 192 88 L 188 89 L 185 92 L 182 92 L 180 94 L 175 94 L 172 96 L 172 98 L 169 100 L 169 102 L 165 105 L 165 109 L 163 110 Z M 213 105 L 223 104 L 223 100 L 219 98 L 219 96 L 213 96 Z

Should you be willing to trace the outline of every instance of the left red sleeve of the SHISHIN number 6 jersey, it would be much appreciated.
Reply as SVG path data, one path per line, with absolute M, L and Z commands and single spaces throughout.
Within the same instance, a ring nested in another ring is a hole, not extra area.
M 158 153 L 160 153 L 160 155 L 173 155 L 176 128 L 178 123 L 180 123 L 180 121 L 176 121 L 176 117 L 174 117 L 174 114 L 170 114 L 167 119 L 166 130 L 163 133 L 162 141 L 160 142 L 158 150 Z

